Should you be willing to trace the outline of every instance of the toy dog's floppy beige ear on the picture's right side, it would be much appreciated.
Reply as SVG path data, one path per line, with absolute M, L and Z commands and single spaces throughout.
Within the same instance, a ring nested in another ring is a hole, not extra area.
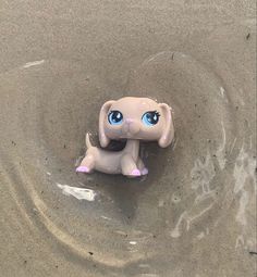
M 174 125 L 172 119 L 171 108 L 168 104 L 160 103 L 159 108 L 162 111 L 164 117 L 164 126 L 158 143 L 160 147 L 166 148 L 170 146 L 174 138 Z

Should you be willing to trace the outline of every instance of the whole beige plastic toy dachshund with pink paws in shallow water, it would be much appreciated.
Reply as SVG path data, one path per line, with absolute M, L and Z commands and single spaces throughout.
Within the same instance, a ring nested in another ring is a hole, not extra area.
M 148 174 L 139 156 L 139 140 L 157 140 L 162 148 L 174 138 L 171 108 L 148 98 L 125 97 L 106 102 L 99 115 L 99 139 L 102 148 L 111 139 L 126 139 L 122 151 L 112 152 L 93 147 L 86 135 L 86 155 L 76 172 L 94 169 L 108 174 L 137 177 Z

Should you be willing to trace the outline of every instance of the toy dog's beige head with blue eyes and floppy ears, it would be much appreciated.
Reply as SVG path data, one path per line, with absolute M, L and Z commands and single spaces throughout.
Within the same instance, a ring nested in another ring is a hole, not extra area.
M 106 102 L 99 115 L 99 139 L 107 147 L 111 139 L 157 140 L 168 147 L 174 138 L 171 108 L 149 98 L 125 97 Z

